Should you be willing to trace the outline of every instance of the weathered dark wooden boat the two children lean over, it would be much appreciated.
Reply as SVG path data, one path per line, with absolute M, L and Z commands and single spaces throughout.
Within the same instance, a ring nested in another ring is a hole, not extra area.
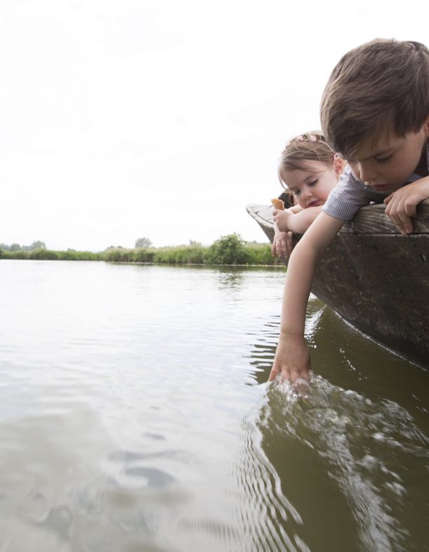
M 357 330 L 429 370 L 429 200 L 418 205 L 409 236 L 384 209 L 362 207 L 345 223 L 319 261 L 312 293 Z M 247 212 L 272 242 L 272 206 L 248 205 Z

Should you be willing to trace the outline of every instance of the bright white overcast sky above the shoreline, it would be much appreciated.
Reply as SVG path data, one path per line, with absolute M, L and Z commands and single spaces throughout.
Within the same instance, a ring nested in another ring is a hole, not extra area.
M 282 190 L 345 52 L 428 44 L 424 2 L 0 0 L 0 243 L 155 247 L 230 233 Z

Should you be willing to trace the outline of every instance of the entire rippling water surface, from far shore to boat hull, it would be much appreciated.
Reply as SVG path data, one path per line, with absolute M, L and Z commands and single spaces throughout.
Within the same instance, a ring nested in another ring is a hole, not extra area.
M 429 373 L 284 270 L 0 261 L 1 552 L 428 551 Z

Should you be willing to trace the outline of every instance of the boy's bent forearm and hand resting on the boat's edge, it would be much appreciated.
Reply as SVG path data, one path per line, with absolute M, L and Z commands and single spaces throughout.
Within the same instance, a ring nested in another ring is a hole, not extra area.
M 411 217 L 416 216 L 416 206 L 429 198 L 429 176 L 402 186 L 399 190 L 385 198 L 386 214 L 395 222 L 402 234 L 410 234 L 414 230 Z

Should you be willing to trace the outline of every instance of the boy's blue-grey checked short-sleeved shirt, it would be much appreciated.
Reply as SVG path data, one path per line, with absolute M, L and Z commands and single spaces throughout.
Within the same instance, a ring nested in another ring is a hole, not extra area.
M 426 146 L 426 161 L 429 170 L 429 142 Z M 420 174 L 415 172 L 411 174 L 405 184 L 411 184 L 416 180 L 421 179 Z M 381 193 L 371 190 L 369 186 L 355 178 L 350 167 L 347 167 L 341 174 L 338 185 L 329 194 L 326 203 L 322 207 L 322 211 L 330 214 L 331 217 L 341 220 L 351 220 L 360 207 L 369 205 L 369 203 L 383 203 L 383 200 L 390 195 L 389 193 Z

